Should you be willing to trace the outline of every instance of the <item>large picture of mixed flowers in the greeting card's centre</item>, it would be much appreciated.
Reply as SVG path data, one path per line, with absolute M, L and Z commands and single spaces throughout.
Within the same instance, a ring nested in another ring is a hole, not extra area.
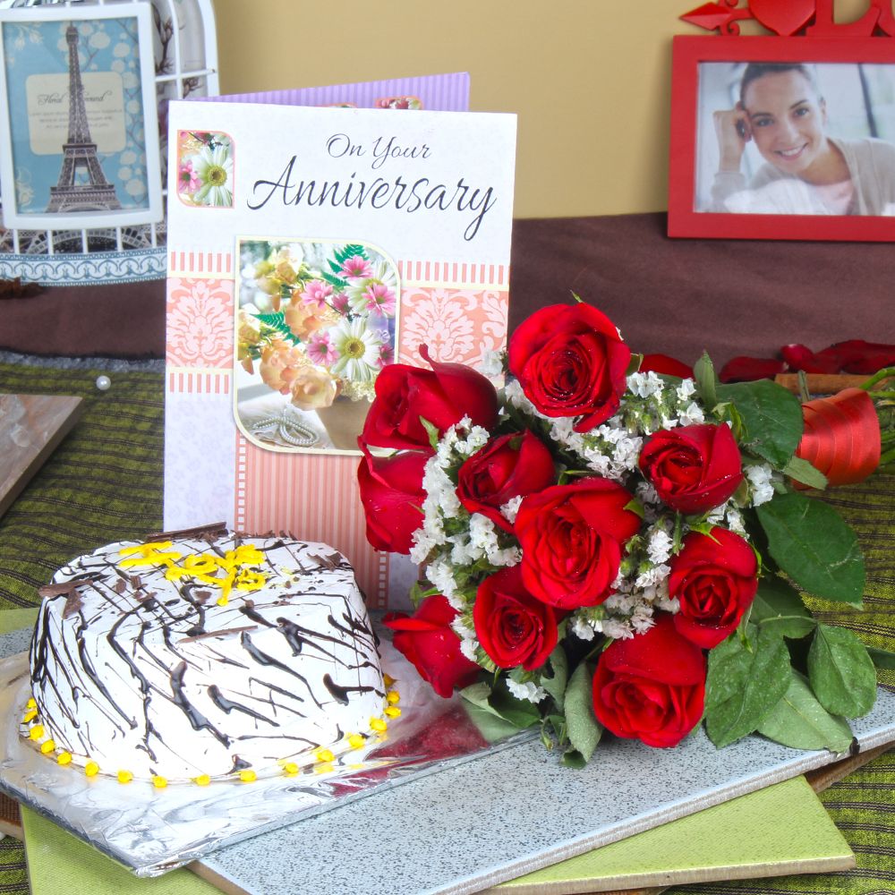
M 356 451 L 395 359 L 393 260 L 364 243 L 243 239 L 235 417 L 259 447 Z

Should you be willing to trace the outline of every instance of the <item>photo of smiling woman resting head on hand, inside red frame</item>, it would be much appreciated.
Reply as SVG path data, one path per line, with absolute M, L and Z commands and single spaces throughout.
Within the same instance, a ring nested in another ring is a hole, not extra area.
M 895 66 L 699 66 L 696 211 L 895 215 Z

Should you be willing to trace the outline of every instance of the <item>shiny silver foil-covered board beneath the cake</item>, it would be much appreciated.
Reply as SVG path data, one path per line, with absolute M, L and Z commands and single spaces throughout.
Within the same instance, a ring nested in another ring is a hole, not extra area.
M 229 780 L 159 790 L 147 781 L 87 778 L 23 740 L 19 720 L 30 695 L 28 657 L 12 656 L 0 661 L 0 789 L 138 876 L 158 876 L 217 848 L 536 736 L 526 731 L 489 744 L 460 697 L 435 695 L 387 634 L 379 630 L 379 635 L 382 667 L 396 679 L 402 714 L 389 722 L 378 743 L 337 756 L 331 770 L 317 767 L 294 777 L 277 774 L 251 783 Z M 0 637 L 0 654 L 9 649 L 3 650 L 4 641 Z

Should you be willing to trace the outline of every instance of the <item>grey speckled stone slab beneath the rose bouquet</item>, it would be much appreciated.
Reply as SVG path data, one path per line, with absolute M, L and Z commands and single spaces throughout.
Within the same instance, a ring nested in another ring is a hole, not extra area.
M 895 695 L 853 723 L 862 751 L 895 741 Z M 702 730 L 674 749 L 614 740 L 583 771 L 538 740 L 373 793 L 202 860 L 228 891 L 307 895 L 477 892 L 823 767 L 802 752 L 746 737 L 716 749 Z

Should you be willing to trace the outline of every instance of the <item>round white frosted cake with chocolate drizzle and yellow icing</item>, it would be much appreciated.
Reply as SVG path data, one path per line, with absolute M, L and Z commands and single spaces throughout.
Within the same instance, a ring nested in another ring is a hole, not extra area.
M 324 544 L 112 544 L 54 581 L 77 584 L 43 601 L 31 686 L 35 720 L 75 763 L 172 781 L 260 772 L 346 748 L 382 717 L 353 569 Z

